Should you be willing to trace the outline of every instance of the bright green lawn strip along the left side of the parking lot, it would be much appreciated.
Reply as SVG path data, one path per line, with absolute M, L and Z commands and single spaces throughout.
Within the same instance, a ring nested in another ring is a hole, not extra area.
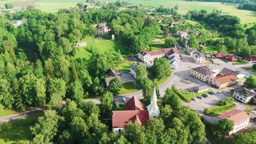
M 205 91 L 205 92 L 201 92 L 201 93 L 193 93 L 193 92 L 189 92 L 187 90 L 181 90 L 181 91 L 176 91 L 177 93 L 181 94 L 183 96 L 183 98 L 181 98 L 183 101 L 185 102 L 189 102 L 191 99 L 193 98 L 196 98 L 198 96 L 201 96 L 202 94 L 205 94 L 205 93 L 208 93 L 208 92 L 211 92 L 212 90 L 209 89 L 208 91 Z M 179 95 L 178 94 L 178 95 Z M 211 95 L 210 95 L 211 97 Z

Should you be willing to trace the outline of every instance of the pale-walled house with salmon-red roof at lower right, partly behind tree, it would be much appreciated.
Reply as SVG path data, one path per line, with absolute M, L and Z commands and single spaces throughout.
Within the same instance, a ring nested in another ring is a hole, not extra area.
M 247 127 L 250 120 L 246 112 L 237 109 L 225 112 L 217 117 L 220 119 L 227 118 L 234 123 L 234 129 L 229 132 L 229 135 L 235 134 L 237 131 Z

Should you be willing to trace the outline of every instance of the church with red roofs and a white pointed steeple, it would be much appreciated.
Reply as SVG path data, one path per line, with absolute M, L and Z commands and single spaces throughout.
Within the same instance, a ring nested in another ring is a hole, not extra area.
M 149 118 L 158 118 L 160 111 L 157 101 L 158 98 L 156 97 L 155 88 L 147 110 L 145 110 L 144 104 L 133 96 L 124 105 L 124 111 L 112 111 L 112 130 L 119 134 L 121 130 L 124 130 L 128 122 L 142 125 L 146 124 Z

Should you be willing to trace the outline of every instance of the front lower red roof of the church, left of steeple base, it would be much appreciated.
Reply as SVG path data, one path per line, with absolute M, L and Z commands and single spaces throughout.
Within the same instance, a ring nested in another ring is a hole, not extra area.
M 147 110 L 139 111 L 112 111 L 112 127 L 124 128 L 128 122 L 146 124 L 149 119 Z

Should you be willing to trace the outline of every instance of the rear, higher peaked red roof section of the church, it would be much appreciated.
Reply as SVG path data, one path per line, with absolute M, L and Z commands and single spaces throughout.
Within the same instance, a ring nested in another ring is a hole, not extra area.
M 125 110 L 144 110 L 144 104 L 141 103 L 136 97 L 132 97 L 125 104 Z

